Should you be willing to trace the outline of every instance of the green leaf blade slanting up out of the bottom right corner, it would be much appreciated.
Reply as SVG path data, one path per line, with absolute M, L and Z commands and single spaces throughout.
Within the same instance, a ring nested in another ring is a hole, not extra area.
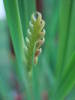
M 59 82 L 56 98 L 64 99 L 75 86 L 75 53 L 71 57 L 69 64 L 66 66 L 61 81 Z M 57 99 L 58 100 L 58 99 Z

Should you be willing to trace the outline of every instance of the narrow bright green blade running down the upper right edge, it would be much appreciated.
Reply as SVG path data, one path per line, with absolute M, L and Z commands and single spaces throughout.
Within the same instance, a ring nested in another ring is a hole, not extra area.
M 67 47 L 67 55 L 65 63 L 67 64 L 71 55 L 75 51 L 75 0 L 72 1 L 72 14 L 71 14 L 71 24 L 70 24 L 70 31 L 69 31 L 69 40 L 68 40 L 68 47 Z

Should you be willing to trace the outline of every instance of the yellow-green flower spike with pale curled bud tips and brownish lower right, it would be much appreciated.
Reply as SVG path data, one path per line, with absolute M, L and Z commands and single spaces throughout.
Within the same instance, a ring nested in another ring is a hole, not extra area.
M 45 21 L 39 12 L 32 14 L 31 21 L 29 22 L 29 29 L 27 30 L 28 36 L 26 37 L 25 57 L 27 59 L 27 69 L 32 70 L 33 61 L 35 64 L 38 62 L 38 56 L 42 52 L 40 48 L 44 43 L 45 35 Z M 35 50 L 34 50 L 35 48 Z

